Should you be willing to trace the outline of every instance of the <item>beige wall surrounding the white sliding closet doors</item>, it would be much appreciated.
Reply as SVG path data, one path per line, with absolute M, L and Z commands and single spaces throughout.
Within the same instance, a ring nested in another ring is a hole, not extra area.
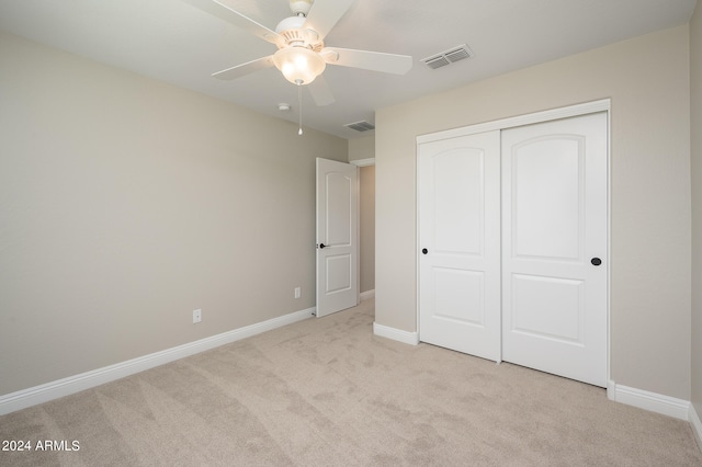
M 611 377 L 690 398 L 688 26 L 376 113 L 376 321 L 417 330 L 416 136 L 612 99 Z

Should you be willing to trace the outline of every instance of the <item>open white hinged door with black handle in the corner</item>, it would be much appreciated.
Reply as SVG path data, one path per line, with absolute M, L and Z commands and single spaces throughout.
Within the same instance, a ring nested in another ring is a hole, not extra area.
M 317 158 L 317 317 L 359 304 L 359 178 Z

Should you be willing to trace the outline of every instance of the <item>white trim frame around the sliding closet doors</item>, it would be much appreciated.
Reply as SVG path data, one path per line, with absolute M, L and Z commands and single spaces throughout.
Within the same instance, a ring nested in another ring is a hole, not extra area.
M 474 135 L 474 134 L 478 134 L 478 133 L 485 133 L 485 132 L 492 132 L 492 130 L 503 130 L 503 129 L 509 129 L 509 128 L 513 128 L 513 127 L 518 127 L 518 126 L 524 126 L 524 125 L 531 125 L 531 124 L 535 124 L 535 123 L 545 123 L 545 122 L 550 122 L 550 121 L 555 121 L 555 119 L 561 119 L 561 118 L 568 118 L 568 117 L 575 117 L 575 116 L 581 116 L 581 115 L 588 115 L 588 114 L 592 114 L 592 113 L 598 113 L 598 112 L 605 112 L 607 114 L 607 258 L 612 258 L 610 249 L 611 249 L 611 225 L 612 225 L 612 197 L 611 197 L 611 163 L 612 163 L 612 158 L 611 158 L 611 140 L 610 140 L 610 135 L 611 135 L 611 99 L 602 99 L 599 101 L 592 101 L 592 102 L 586 102 L 586 103 L 581 103 L 581 104 L 575 104 L 575 105 L 568 105 L 565 107 L 557 107 L 557 109 L 552 109 L 552 110 L 547 110 L 547 111 L 541 111 L 541 112 L 535 112 L 535 113 L 530 113 L 530 114 L 523 114 L 523 115 L 518 115 L 518 116 L 513 116 L 513 117 L 507 117 L 507 118 L 500 118 L 500 119 L 496 119 L 496 121 L 491 121 L 491 122 L 485 122 L 485 123 L 479 123 L 479 124 L 475 124 L 475 125 L 468 125 L 468 126 L 464 126 L 464 127 L 458 127 L 458 128 L 453 128 L 453 129 L 446 129 L 443 132 L 437 132 L 437 133 L 431 133 L 431 134 L 426 134 L 426 135 L 419 135 L 416 138 L 416 146 L 415 146 L 415 173 L 418 173 L 419 170 L 419 145 L 420 144 L 424 144 L 424 143 L 432 143 L 432 141 L 437 141 L 437 140 L 441 140 L 441 139 L 449 139 L 449 138 L 455 138 L 458 136 L 468 136 L 468 135 Z M 418 181 L 419 181 L 419 176 L 416 176 L 416 190 L 415 190 L 415 207 L 416 207 L 416 226 L 415 226 L 415 271 L 416 271 L 416 291 L 417 291 L 417 296 L 416 296 L 416 304 L 417 304 L 417 309 L 416 309 L 416 314 L 415 314 L 415 322 L 417 322 L 417 339 L 418 341 L 421 340 L 421 329 L 419 329 L 420 327 L 420 319 L 419 319 L 419 304 L 420 304 L 420 297 L 419 297 L 419 261 L 420 261 L 420 252 L 419 252 L 419 244 L 418 244 L 418 240 L 419 240 L 419 229 L 420 229 L 420 217 L 419 217 L 419 186 L 418 186 Z M 611 281 L 611 264 L 612 261 L 607 261 L 607 291 L 605 291 L 605 296 L 607 296 L 607 380 L 611 381 L 611 335 L 610 335 L 610 281 Z M 608 384 L 609 386 L 609 384 Z M 609 387 L 608 387 L 609 390 Z

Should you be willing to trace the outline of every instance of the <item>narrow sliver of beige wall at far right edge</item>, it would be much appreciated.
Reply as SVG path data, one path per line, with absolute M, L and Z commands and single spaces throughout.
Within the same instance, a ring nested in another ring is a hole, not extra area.
M 692 144 L 692 403 L 702 415 L 702 2 L 690 23 Z

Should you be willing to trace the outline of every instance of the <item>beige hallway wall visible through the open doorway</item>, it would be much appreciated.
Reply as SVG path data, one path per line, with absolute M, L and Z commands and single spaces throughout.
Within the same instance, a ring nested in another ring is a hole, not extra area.
M 361 292 L 375 289 L 375 166 L 361 167 Z

